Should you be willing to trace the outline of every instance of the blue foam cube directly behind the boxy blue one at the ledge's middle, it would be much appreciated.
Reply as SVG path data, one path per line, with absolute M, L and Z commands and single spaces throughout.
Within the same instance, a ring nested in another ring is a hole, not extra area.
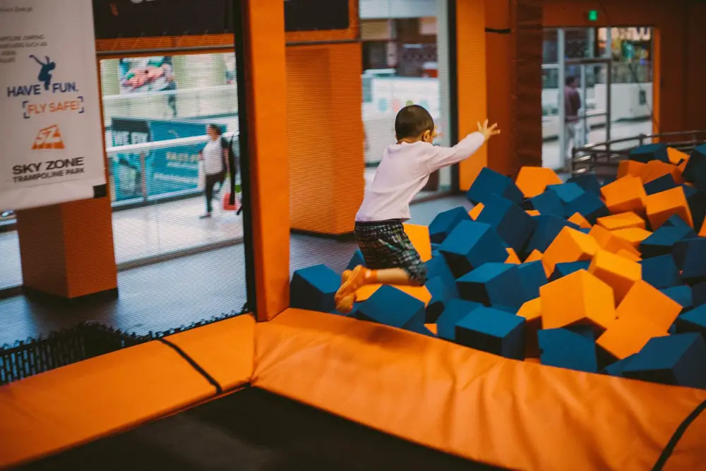
M 517 266 L 510 263 L 484 263 L 456 280 L 461 299 L 485 306 L 522 306 L 516 287 L 520 285 Z

